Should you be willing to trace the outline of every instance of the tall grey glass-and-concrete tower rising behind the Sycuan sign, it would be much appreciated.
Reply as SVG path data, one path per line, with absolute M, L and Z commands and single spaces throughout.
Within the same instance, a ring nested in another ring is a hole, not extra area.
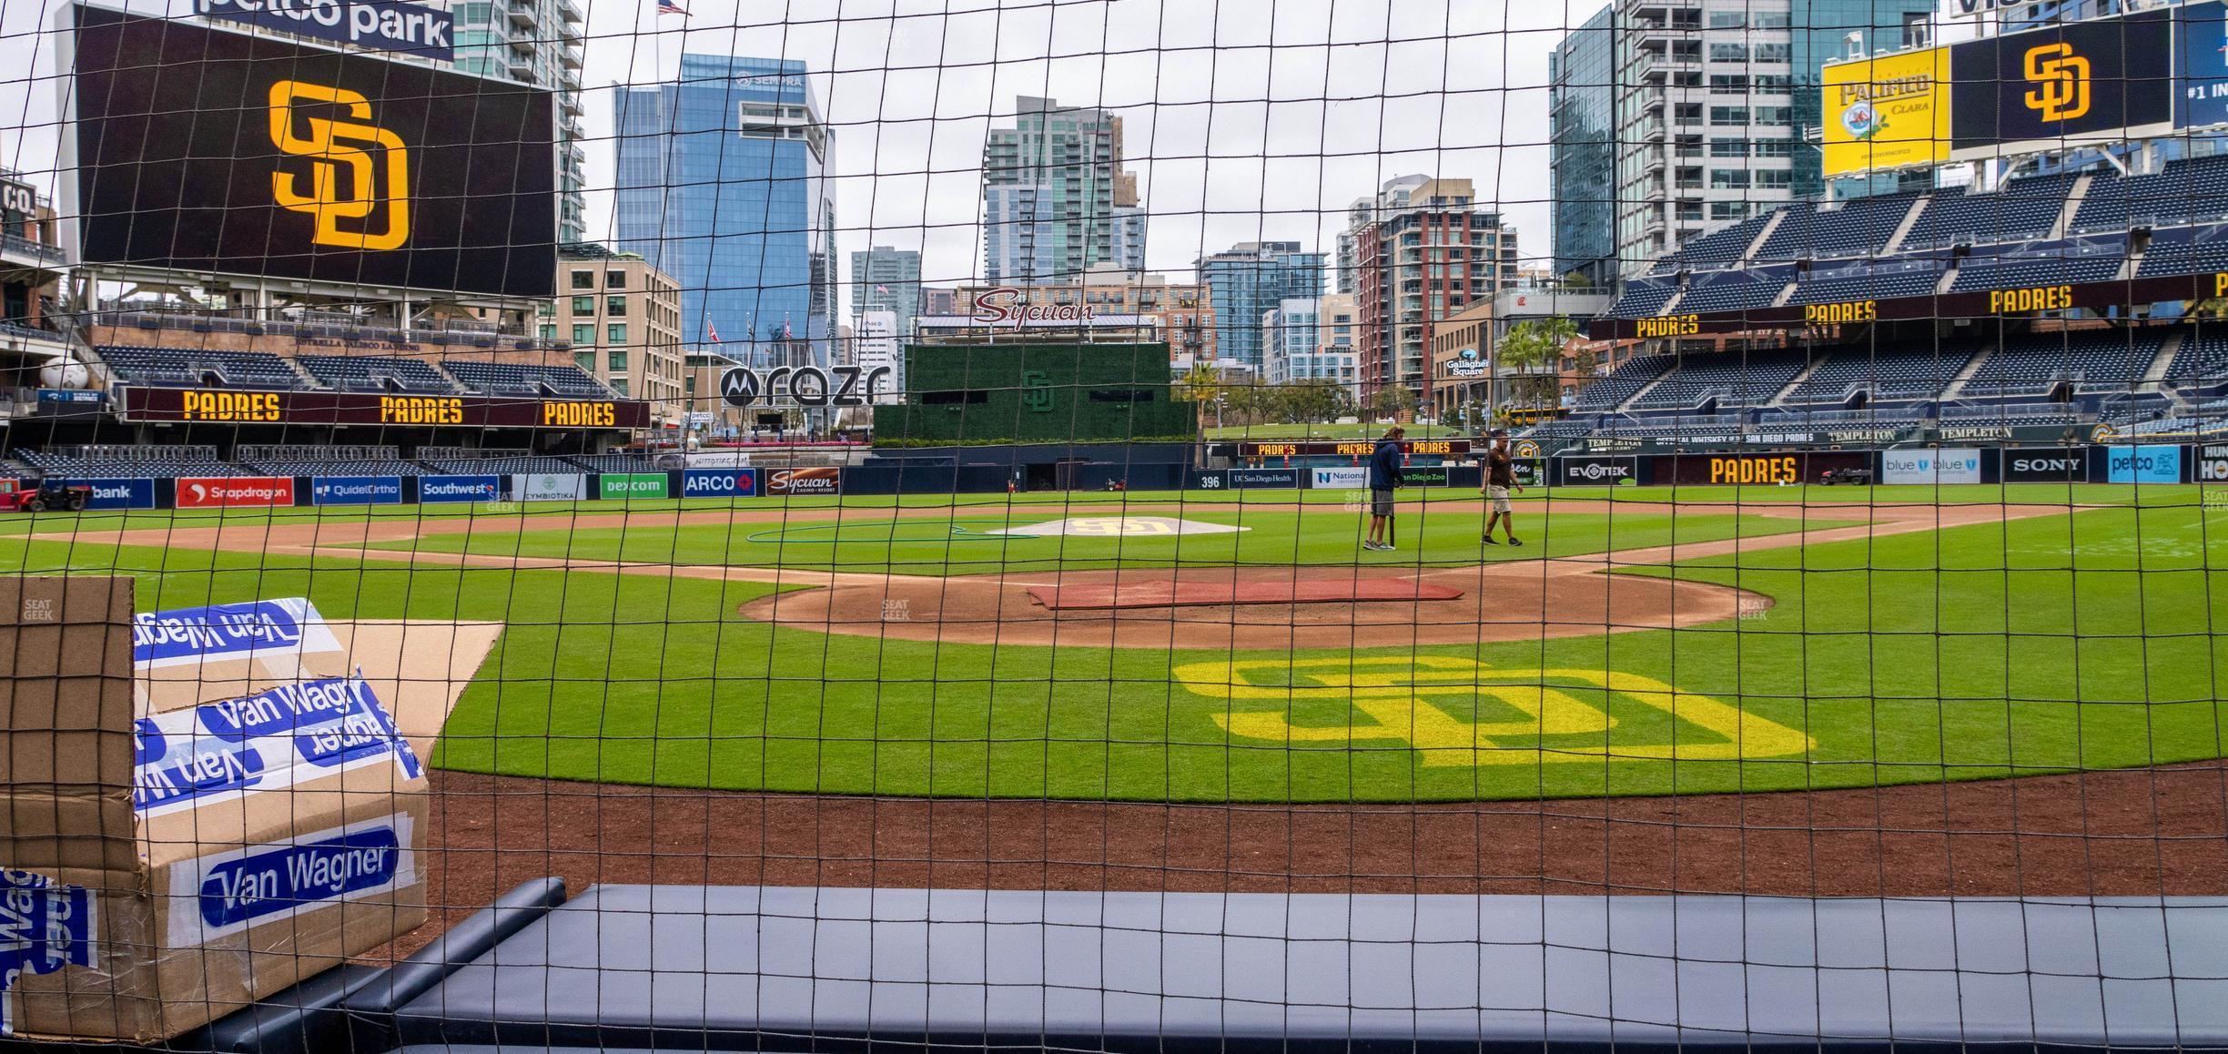
M 1145 267 L 1145 209 L 1123 167 L 1121 118 L 1020 96 L 983 143 L 983 279 L 1072 281 L 1094 263 Z

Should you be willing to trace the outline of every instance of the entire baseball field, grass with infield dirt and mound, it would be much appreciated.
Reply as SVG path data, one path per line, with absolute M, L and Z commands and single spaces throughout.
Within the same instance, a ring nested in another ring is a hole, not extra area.
M 1537 495 L 1537 492 L 1535 492 Z M 1491 802 L 2210 760 L 2197 488 L 1326 492 L 85 513 L 143 608 L 508 628 L 437 769 L 709 791 Z

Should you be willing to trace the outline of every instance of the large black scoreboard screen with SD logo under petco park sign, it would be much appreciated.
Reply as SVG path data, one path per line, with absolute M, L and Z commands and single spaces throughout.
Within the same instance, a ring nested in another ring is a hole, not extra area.
M 65 172 L 87 263 L 555 294 L 550 91 L 174 18 L 74 11 L 80 167 Z

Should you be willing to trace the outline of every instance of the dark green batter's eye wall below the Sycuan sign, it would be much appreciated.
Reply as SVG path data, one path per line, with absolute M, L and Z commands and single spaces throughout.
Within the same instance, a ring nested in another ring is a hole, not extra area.
M 876 443 L 1192 439 L 1165 343 L 911 345 L 907 406 L 873 410 Z

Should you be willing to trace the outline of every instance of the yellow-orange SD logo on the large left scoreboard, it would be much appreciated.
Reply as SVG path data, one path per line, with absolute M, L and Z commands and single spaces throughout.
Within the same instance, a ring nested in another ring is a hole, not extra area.
M 272 172 L 272 198 L 283 209 L 316 216 L 312 243 L 397 250 L 410 238 L 410 149 L 394 131 L 372 125 L 368 98 L 345 87 L 278 80 L 270 94 L 270 125 L 278 149 L 310 158 L 310 192 L 303 194 L 299 172 Z M 379 178 L 381 167 L 385 178 Z M 381 209 L 385 221 L 374 223 Z

